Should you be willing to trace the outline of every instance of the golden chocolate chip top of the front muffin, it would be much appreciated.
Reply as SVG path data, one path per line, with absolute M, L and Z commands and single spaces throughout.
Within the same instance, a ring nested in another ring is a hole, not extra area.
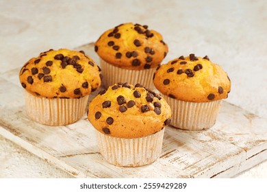
M 171 110 L 157 93 L 141 84 L 114 84 L 89 104 L 88 119 L 99 132 L 119 138 L 138 138 L 170 123 Z

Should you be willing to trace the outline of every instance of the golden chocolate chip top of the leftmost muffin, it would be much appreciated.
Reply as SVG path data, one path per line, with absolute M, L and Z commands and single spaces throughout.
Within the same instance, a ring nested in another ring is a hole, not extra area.
M 84 51 L 50 49 L 31 58 L 19 80 L 29 93 L 47 98 L 79 98 L 101 85 L 101 69 Z

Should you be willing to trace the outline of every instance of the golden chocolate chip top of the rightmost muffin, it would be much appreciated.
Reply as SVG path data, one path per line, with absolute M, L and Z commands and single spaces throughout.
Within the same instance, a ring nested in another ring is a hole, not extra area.
M 218 64 L 190 54 L 158 67 L 153 83 L 162 94 L 173 99 L 207 102 L 227 98 L 231 81 Z

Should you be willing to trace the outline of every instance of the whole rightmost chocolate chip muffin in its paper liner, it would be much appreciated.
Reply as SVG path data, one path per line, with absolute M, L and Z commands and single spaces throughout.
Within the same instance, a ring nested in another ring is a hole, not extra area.
M 231 88 L 222 67 L 194 54 L 158 67 L 153 82 L 172 108 L 171 125 L 183 130 L 211 128 Z

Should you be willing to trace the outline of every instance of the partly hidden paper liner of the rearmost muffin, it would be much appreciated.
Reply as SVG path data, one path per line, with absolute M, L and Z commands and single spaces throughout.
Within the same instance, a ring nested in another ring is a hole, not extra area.
M 118 82 L 127 82 L 133 85 L 140 83 L 150 89 L 155 88 L 153 84 L 153 74 L 155 72 L 155 68 L 142 70 L 122 69 L 105 62 L 101 58 L 100 64 L 103 74 L 103 84 L 105 87 Z

